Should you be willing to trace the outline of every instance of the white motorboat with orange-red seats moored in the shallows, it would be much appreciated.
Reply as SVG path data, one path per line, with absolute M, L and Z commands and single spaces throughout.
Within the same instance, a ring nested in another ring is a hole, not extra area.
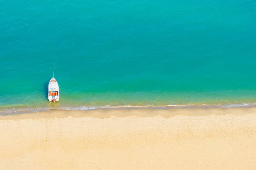
M 58 87 L 58 82 L 54 78 L 54 68 L 53 76 L 48 85 L 48 100 L 49 102 L 58 102 L 60 99 L 60 91 Z

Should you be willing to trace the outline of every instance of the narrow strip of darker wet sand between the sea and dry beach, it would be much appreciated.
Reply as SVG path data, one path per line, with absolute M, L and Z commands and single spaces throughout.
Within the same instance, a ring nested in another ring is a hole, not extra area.
M 237 108 L 173 108 L 173 107 L 128 107 L 128 108 L 98 108 L 92 110 L 59 110 L 51 109 L 36 112 L 0 114 L 0 120 L 4 119 L 48 119 L 66 117 L 93 117 L 105 119 L 109 117 L 153 117 L 162 116 L 170 118 L 174 116 L 210 116 L 210 115 L 230 115 L 241 116 L 245 114 L 256 114 L 256 107 Z

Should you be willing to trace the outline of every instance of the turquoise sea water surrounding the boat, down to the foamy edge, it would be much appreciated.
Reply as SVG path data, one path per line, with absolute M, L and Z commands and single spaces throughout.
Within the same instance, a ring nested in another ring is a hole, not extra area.
M 0 1 L 1 109 L 254 103 L 255 0 Z

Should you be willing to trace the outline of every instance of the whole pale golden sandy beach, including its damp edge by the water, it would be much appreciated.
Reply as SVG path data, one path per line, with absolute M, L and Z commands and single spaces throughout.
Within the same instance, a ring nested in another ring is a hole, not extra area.
M 0 116 L 1 170 L 255 170 L 256 108 Z

